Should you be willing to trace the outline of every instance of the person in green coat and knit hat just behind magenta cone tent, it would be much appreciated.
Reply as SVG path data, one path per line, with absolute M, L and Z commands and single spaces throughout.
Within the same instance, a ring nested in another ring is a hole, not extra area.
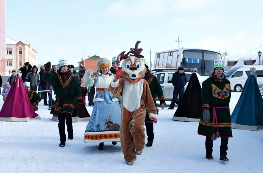
M 39 96 L 39 94 L 36 91 L 33 91 L 30 88 L 30 82 L 25 82 L 24 87 L 27 91 L 28 98 L 30 100 L 30 103 L 31 103 L 34 111 L 38 111 L 38 103 L 41 101 L 41 97 Z

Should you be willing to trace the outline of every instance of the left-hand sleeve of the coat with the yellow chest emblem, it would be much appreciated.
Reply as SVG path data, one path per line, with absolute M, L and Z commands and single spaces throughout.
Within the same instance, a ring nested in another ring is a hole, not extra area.
M 209 85 L 208 80 L 205 80 L 202 83 L 202 102 L 203 110 L 209 110 L 210 96 L 212 94 L 211 86 Z

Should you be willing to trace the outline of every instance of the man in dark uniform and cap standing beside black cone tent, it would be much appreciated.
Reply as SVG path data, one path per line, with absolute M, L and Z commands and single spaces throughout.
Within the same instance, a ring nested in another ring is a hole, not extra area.
M 184 68 L 179 67 L 178 71 L 173 74 L 172 84 L 174 86 L 174 93 L 172 103 L 168 109 L 174 109 L 175 102 L 179 94 L 179 104 L 184 95 L 184 86 L 187 83 L 187 75 L 184 73 Z

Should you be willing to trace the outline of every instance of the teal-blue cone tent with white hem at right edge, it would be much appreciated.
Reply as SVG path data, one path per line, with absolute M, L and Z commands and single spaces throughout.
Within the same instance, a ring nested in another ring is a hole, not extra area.
M 243 130 L 263 128 L 263 99 L 255 73 L 256 69 L 250 68 L 250 75 L 231 115 L 232 128 Z

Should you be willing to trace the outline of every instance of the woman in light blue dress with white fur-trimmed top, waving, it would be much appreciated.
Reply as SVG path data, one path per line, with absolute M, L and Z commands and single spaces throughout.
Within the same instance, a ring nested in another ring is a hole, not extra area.
M 84 142 L 100 142 L 99 150 L 103 150 L 104 142 L 113 145 L 120 141 L 121 109 L 119 99 L 109 89 L 115 75 L 111 74 L 110 61 L 101 59 L 97 62 L 98 70 L 92 74 L 86 71 L 81 86 L 96 85 L 94 107 L 84 133 Z

